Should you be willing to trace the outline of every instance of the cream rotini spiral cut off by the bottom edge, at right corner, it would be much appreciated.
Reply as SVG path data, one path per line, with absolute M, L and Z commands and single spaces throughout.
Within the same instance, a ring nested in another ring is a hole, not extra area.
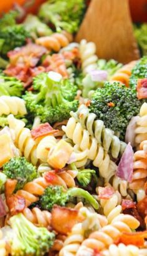
M 147 249 L 146 253 L 147 253 Z M 103 250 L 102 255 L 103 256 L 121 256 L 121 255 L 127 255 L 127 256 L 141 256 L 146 255 L 145 251 L 141 250 L 140 248 L 136 247 L 135 245 L 124 245 L 123 243 L 120 243 L 119 245 L 110 245 L 108 250 Z

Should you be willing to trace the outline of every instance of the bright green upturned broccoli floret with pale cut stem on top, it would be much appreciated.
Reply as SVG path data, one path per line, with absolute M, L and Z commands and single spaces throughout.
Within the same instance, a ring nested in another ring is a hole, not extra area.
M 27 92 L 23 98 L 28 112 L 39 116 L 42 122 L 65 120 L 71 110 L 78 108 L 78 101 L 74 100 L 77 86 L 63 80 L 59 73 L 50 71 L 39 74 L 34 78 L 33 87 L 36 93 Z

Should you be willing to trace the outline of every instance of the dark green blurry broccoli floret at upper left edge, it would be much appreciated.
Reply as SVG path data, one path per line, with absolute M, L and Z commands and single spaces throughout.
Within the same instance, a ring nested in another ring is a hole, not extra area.
M 6 56 L 8 51 L 16 47 L 21 47 L 29 38 L 29 33 L 22 24 L 7 26 L 0 30 L 1 51 L 2 56 Z

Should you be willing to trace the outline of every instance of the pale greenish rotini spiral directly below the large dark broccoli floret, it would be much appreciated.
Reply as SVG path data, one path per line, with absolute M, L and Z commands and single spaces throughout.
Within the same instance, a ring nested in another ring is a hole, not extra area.
M 87 106 L 81 105 L 77 112 L 71 111 L 70 115 L 82 125 L 83 129 L 97 139 L 97 142 L 103 146 L 105 151 L 111 152 L 113 158 L 118 158 L 118 155 L 123 153 L 126 143 L 113 135 L 112 130 L 105 128 L 102 120 L 95 120 L 96 115 L 89 113 Z

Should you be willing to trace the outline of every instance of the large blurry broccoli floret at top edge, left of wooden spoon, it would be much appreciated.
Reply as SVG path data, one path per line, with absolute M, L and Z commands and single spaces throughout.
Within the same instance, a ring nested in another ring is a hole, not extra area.
M 78 30 L 85 11 L 83 0 L 52 0 L 42 4 L 39 9 L 39 18 L 45 23 L 52 23 L 60 32 L 66 30 L 75 33 Z

